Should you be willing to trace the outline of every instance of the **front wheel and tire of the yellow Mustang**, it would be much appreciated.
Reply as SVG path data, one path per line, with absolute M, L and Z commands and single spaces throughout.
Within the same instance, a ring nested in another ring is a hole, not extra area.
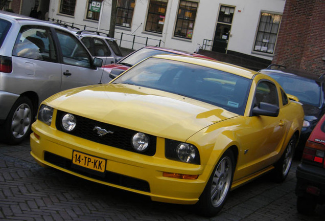
M 234 153 L 230 149 L 222 155 L 197 203 L 198 213 L 206 217 L 218 214 L 226 202 L 235 171 Z

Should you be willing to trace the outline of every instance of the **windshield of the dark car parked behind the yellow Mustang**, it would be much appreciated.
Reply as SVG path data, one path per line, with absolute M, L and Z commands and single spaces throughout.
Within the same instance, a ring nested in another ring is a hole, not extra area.
M 301 103 L 320 106 L 321 86 L 315 80 L 274 72 L 261 71 L 261 73 L 275 79 L 287 94 L 296 96 Z

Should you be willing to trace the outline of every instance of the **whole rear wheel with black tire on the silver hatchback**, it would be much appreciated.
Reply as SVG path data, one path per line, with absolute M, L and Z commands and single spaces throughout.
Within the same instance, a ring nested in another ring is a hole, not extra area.
M 25 140 L 30 135 L 33 120 L 34 109 L 31 100 L 24 96 L 19 97 L 4 123 L 3 141 L 15 145 Z

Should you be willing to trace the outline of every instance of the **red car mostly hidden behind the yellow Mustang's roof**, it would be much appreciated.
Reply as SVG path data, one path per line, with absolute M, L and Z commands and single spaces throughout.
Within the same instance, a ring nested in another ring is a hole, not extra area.
M 207 57 L 205 55 L 201 55 L 197 53 L 189 53 L 189 52 L 182 52 L 182 51 L 177 51 L 172 49 L 147 46 L 130 53 L 129 55 L 125 56 L 122 60 L 120 60 L 115 64 L 104 65 L 104 69 L 110 75 L 111 78 L 115 78 L 119 76 L 121 73 L 123 73 L 125 70 L 132 67 L 134 64 L 142 61 L 145 58 L 157 54 L 178 54 L 178 55 L 187 55 L 192 57 L 200 57 L 200 58 L 215 60 L 214 58 Z

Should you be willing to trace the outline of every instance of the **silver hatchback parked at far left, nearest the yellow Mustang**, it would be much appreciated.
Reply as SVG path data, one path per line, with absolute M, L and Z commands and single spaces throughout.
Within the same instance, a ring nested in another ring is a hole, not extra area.
M 9 144 L 29 136 L 45 98 L 110 80 L 78 37 L 45 21 L 1 11 L 0 46 L 0 130 Z

